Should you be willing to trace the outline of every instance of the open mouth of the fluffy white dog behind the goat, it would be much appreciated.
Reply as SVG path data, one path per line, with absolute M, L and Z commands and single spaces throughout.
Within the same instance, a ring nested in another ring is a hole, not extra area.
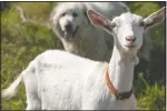
M 66 30 L 66 31 L 63 31 L 63 37 L 65 37 L 65 39 L 66 40 L 71 40 L 72 38 L 75 38 L 75 36 L 76 36 L 76 33 L 77 33 L 77 31 L 78 31 L 78 28 L 79 27 L 77 27 L 76 28 L 76 30 Z

